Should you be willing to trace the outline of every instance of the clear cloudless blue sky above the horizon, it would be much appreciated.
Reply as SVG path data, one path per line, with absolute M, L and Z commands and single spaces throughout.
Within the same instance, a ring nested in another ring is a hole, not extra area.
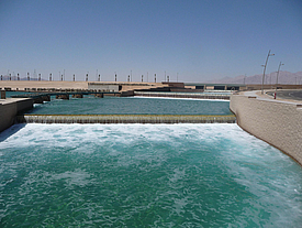
M 0 74 L 205 82 L 302 70 L 301 0 L 0 0 Z M 260 82 L 259 82 L 260 83 Z

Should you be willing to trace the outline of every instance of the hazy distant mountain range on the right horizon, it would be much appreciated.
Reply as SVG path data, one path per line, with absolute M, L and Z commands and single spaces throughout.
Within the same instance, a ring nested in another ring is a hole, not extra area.
M 211 80 L 208 83 L 221 83 L 221 84 L 261 84 L 264 75 L 247 76 L 239 75 L 237 77 L 224 77 L 221 79 Z M 265 84 L 276 84 L 277 72 L 266 74 Z M 279 72 L 278 84 L 292 84 L 302 85 L 302 72 L 290 73 Z

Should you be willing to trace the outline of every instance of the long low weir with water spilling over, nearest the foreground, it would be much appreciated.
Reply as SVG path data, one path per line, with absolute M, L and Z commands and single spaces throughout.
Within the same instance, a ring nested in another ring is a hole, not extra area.
M 24 115 L 19 123 L 235 123 L 234 115 Z

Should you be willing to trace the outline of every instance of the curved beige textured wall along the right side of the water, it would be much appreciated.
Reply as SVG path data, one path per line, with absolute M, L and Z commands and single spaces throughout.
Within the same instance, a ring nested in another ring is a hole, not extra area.
M 302 105 L 232 95 L 237 124 L 302 165 Z

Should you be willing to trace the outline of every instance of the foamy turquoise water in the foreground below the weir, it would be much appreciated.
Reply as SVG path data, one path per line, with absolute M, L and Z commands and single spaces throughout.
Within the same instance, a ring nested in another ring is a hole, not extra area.
M 0 227 L 301 227 L 302 170 L 236 124 L 15 124 Z

